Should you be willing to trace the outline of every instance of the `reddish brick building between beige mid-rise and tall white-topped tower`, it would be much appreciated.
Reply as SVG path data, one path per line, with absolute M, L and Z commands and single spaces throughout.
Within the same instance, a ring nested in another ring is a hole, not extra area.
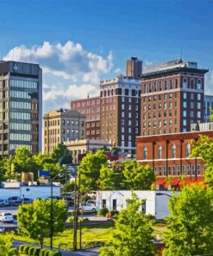
M 72 100 L 71 109 L 85 115 L 85 138 L 100 139 L 100 97 Z

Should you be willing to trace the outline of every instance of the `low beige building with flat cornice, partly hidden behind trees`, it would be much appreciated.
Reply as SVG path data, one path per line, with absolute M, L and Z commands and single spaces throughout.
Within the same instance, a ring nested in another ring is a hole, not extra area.
M 72 140 L 65 142 L 68 150 L 72 152 L 72 161 L 73 163 L 78 163 L 79 157 L 81 154 L 86 154 L 89 151 L 97 151 L 103 149 L 103 147 L 110 148 L 111 144 L 103 140 L 95 139 L 81 139 L 81 140 Z

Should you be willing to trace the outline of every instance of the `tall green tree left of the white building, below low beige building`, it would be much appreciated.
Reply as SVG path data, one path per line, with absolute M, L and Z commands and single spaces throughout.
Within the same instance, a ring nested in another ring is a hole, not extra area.
M 80 190 L 88 192 L 97 190 L 99 185 L 100 170 L 107 166 L 107 157 L 103 150 L 97 152 L 89 152 L 78 166 L 78 174 L 81 174 Z

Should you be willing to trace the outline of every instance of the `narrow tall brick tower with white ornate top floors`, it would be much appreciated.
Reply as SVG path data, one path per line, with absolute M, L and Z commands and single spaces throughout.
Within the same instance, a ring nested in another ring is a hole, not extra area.
M 100 82 L 101 139 L 135 154 L 141 133 L 141 80 L 122 75 Z

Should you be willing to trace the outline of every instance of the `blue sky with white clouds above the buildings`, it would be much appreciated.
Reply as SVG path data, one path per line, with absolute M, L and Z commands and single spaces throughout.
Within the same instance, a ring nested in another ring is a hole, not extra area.
M 98 80 L 124 72 L 130 56 L 163 62 L 179 58 L 180 48 L 184 60 L 210 69 L 206 86 L 213 92 L 213 1 L 0 0 L 0 5 L 0 58 L 41 62 L 45 112 L 96 94 Z

